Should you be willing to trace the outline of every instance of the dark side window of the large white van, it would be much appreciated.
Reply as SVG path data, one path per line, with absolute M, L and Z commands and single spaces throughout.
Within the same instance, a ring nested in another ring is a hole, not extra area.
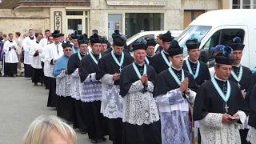
M 216 31 L 212 37 L 206 42 L 205 46 L 202 49 L 208 50 L 209 54 L 209 67 L 214 66 L 214 52 L 211 50 L 211 47 L 217 45 L 230 45 L 233 38 L 240 37 L 242 43 L 245 38 L 245 31 L 243 29 L 223 29 Z

